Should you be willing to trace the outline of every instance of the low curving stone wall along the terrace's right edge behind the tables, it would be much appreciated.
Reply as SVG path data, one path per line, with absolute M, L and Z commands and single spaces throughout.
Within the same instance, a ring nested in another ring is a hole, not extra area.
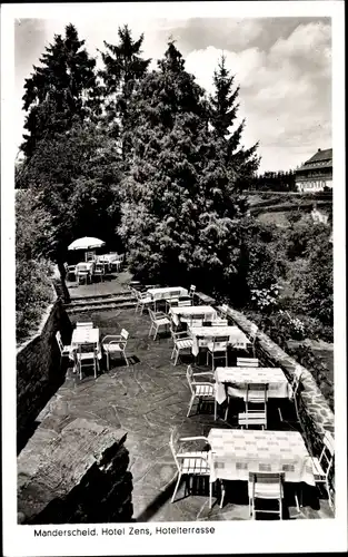
M 229 307 L 228 316 L 241 331 L 250 335 L 252 323 L 242 313 Z M 257 355 L 262 362 L 271 367 L 281 368 L 289 378 L 289 381 L 294 379 L 295 369 L 298 367 L 301 369 L 301 389 L 298 397 L 299 418 L 308 448 L 314 456 L 319 456 L 322 449 L 325 431 L 330 431 L 335 436 L 335 416 L 325 397 L 321 394 L 316 380 L 306 368 L 299 365 L 296 360 L 281 350 L 262 331 L 259 331 L 257 334 L 255 348 Z M 335 491 L 334 467 L 331 486 L 332 491 Z

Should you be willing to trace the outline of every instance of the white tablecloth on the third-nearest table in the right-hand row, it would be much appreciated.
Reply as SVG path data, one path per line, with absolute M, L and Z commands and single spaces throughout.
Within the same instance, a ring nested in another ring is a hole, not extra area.
M 247 335 L 236 325 L 218 325 L 218 326 L 190 326 L 189 331 L 192 334 L 192 354 L 198 355 L 199 348 L 206 346 L 215 336 L 228 336 L 228 343 L 232 346 L 246 349 L 249 340 Z

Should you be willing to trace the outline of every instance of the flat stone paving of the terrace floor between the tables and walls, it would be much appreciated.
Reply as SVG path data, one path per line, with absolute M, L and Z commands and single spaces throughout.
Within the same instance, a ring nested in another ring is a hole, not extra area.
M 207 436 L 211 427 L 230 427 L 221 419 L 215 422 L 213 409 L 209 407 L 200 413 L 195 413 L 193 407 L 192 416 L 186 417 L 190 399 L 186 367 L 190 356 L 173 367 L 169 334 L 156 341 L 149 339 L 149 316 L 136 314 L 135 310 L 83 312 L 73 315 L 71 321 L 92 321 L 100 329 L 101 338 L 127 329 L 130 365 L 113 361 L 109 372 L 103 371 L 97 380 L 86 377 L 82 381 L 68 369 L 64 384 L 39 417 L 39 429 L 44 428 L 47 434 L 59 432 L 73 419 L 86 418 L 127 431 L 136 521 L 249 519 L 246 482 L 231 483 L 222 509 L 217 502 L 209 509 L 207 486 L 187 497 L 183 497 L 182 486 L 176 502 L 170 504 L 177 471 L 168 444 L 171 428 L 178 427 L 181 436 Z M 269 412 L 270 429 L 280 429 L 271 407 Z M 317 490 L 314 491 L 309 494 L 310 502 L 299 515 L 292 494 L 289 494 L 285 518 L 332 517 L 327 500 L 318 499 Z

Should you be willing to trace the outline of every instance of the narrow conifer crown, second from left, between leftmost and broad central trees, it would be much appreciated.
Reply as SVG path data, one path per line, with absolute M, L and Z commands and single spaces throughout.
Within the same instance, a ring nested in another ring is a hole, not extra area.
M 133 40 L 128 26 L 118 29 L 119 43 L 103 41 L 106 51 L 101 52 L 105 69 L 99 75 L 105 84 L 106 114 L 110 133 L 121 135 L 122 155 L 126 157 L 130 143 L 128 121 L 129 105 L 139 80 L 146 75 L 151 59 L 141 58 L 143 35 Z

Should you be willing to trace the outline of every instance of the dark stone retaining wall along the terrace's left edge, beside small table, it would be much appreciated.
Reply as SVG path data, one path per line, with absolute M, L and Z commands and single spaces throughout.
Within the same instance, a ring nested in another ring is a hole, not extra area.
M 64 380 L 57 331 L 70 343 L 71 323 L 59 299 L 44 312 L 36 334 L 17 350 L 18 452 L 34 429 L 37 416 Z

